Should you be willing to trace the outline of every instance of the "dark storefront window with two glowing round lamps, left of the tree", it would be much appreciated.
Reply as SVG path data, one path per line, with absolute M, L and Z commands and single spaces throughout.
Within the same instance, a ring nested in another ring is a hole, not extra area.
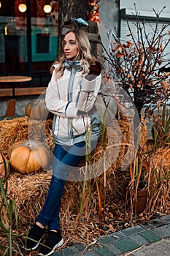
M 33 86 L 46 86 L 57 56 L 58 2 L 0 0 L 0 75 L 31 75 Z

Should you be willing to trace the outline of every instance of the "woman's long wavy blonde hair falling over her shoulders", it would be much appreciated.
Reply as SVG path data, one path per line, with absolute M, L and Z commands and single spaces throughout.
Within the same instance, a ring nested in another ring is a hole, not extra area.
M 75 56 L 73 61 L 82 61 L 82 74 L 86 74 L 89 72 L 90 64 L 93 64 L 93 62 L 96 60 L 93 56 L 90 54 L 91 46 L 88 39 L 87 34 L 85 31 L 79 29 L 79 30 L 69 30 L 66 32 L 66 34 L 69 34 L 70 32 L 74 33 L 76 37 L 76 45 L 78 48 L 78 54 Z M 65 35 L 66 35 L 65 34 Z M 66 56 L 63 53 L 63 56 L 59 61 L 55 61 L 53 64 L 59 64 L 59 67 L 55 69 L 57 78 L 60 78 L 63 75 L 64 72 L 64 62 L 66 61 Z M 53 68 L 50 69 L 50 71 L 53 71 Z

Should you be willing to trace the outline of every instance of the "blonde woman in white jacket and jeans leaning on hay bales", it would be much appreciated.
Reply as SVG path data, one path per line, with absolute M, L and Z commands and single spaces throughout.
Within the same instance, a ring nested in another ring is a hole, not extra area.
M 101 65 L 90 55 L 85 31 L 68 31 L 63 39 L 63 56 L 54 64 L 46 92 L 46 105 L 54 113 L 55 151 L 53 176 L 45 204 L 28 233 L 25 249 L 36 249 L 48 229 L 39 255 L 51 255 L 63 244 L 59 211 L 66 177 L 86 154 L 86 135 L 91 131 L 93 149 L 100 137 L 100 121 L 94 102 L 101 86 Z

